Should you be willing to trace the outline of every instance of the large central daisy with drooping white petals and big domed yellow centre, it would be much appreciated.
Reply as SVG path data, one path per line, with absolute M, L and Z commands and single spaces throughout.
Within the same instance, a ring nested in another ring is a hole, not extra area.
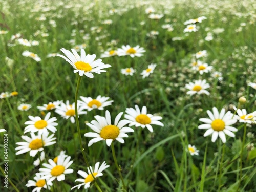
M 123 112 L 119 113 L 114 121 L 114 125 L 111 124 L 111 116 L 110 112 L 105 112 L 105 117 L 101 117 L 99 115 L 94 116 L 97 120 L 92 120 L 91 123 L 86 123 L 94 132 L 89 132 L 84 134 L 85 137 L 94 137 L 88 143 L 88 146 L 91 146 L 93 143 L 96 143 L 101 140 L 106 141 L 106 145 L 110 146 L 112 141 L 117 140 L 120 143 L 124 143 L 123 137 L 128 137 L 126 133 L 134 132 L 134 130 L 130 127 L 124 127 L 124 125 L 128 124 L 130 121 L 123 119 L 121 121 L 120 118 Z

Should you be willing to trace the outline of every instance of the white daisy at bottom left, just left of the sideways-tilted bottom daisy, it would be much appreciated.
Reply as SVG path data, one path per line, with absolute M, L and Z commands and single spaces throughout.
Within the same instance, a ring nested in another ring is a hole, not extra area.
M 42 166 L 46 168 L 39 168 L 42 179 L 49 179 L 53 181 L 57 178 L 58 181 L 65 180 L 65 174 L 73 173 L 73 169 L 69 168 L 73 161 L 70 161 L 71 157 L 67 158 L 64 155 L 58 156 L 58 161 L 55 163 L 52 159 L 49 159 L 47 163 L 43 163 Z

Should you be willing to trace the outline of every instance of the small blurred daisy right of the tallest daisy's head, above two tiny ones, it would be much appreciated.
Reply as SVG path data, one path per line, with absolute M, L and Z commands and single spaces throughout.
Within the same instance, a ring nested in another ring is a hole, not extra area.
M 126 45 L 126 46 L 122 46 L 121 48 L 117 49 L 117 55 L 118 56 L 124 56 L 124 55 L 130 55 L 132 58 L 133 57 L 141 57 L 146 51 L 144 50 L 143 47 L 140 46 L 135 46 L 135 47 L 131 47 L 130 45 Z

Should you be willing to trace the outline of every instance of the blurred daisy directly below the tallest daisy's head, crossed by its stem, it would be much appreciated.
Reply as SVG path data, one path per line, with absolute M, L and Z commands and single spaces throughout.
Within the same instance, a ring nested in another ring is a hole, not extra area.
M 86 111 L 82 111 L 83 109 L 80 106 L 77 106 L 78 115 L 87 114 Z M 75 103 L 69 104 L 69 101 L 65 103 L 60 103 L 60 106 L 56 106 L 55 112 L 61 115 L 62 118 L 69 119 L 72 123 L 75 123 Z

